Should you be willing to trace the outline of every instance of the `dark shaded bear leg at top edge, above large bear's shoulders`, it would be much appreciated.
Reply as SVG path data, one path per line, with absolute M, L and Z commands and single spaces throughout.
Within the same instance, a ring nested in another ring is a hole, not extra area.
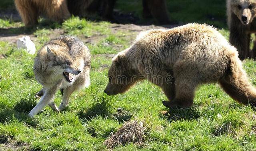
M 158 24 L 170 24 L 165 0 L 143 0 L 143 17 L 153 17 Z

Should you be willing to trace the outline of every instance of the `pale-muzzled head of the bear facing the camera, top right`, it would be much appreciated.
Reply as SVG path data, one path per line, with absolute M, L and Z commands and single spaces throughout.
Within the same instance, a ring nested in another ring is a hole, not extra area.
M 256 0 L 230 0 L 231 11 L 244 25 L 250 24 L 256 16 Z

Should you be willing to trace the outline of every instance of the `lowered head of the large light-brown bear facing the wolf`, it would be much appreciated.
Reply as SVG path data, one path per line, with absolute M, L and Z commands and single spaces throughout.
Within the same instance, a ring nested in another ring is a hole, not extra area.
M 104 90 L 107 95 L 124 93 L 137 81 L 137 74 L 131 68 L 131 63 L 123 52 L 118 53 L 112 59 L 112 65 L 108 70 L 108 85 Z

